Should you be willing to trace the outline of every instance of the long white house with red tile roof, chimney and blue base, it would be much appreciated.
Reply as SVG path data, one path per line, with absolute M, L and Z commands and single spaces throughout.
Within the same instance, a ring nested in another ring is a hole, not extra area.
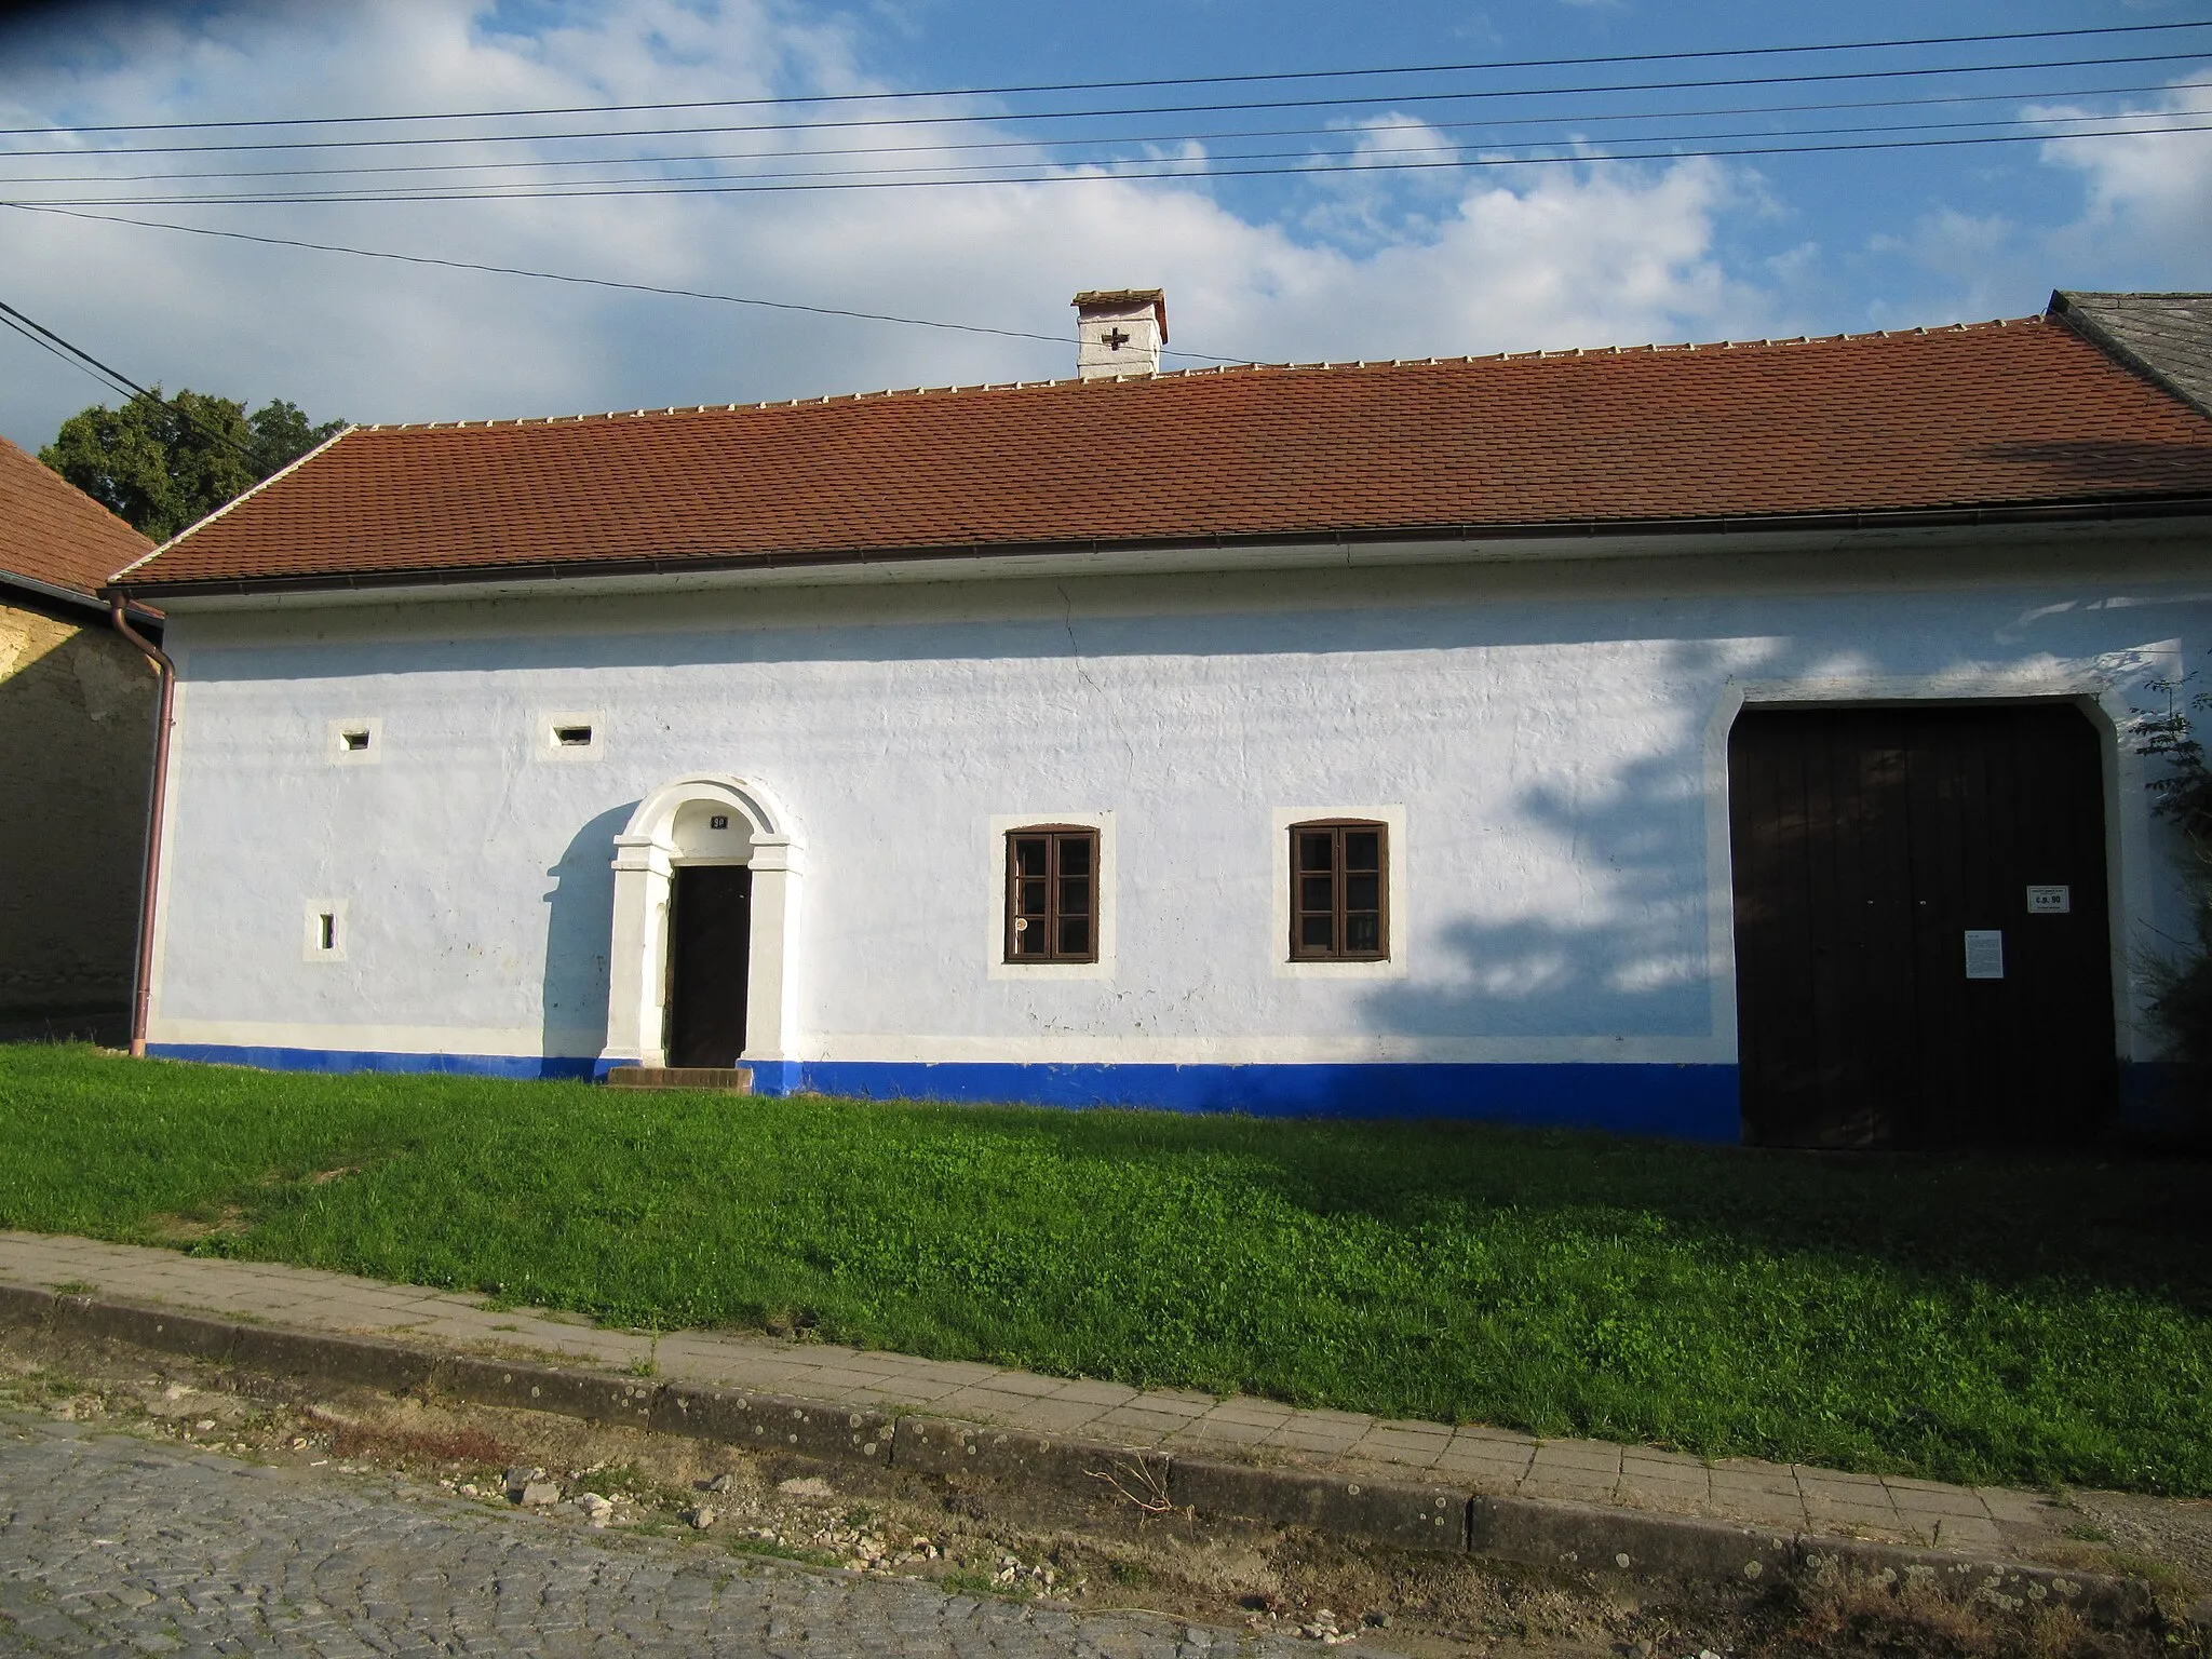
M 1093 299 L 1075 380 L 363 427 L 135 566 L 153 1051 L 1832 1146 L 2141 1099 L 2203 409 L 2064 307 L 1126 376 L 1166 307 Z

